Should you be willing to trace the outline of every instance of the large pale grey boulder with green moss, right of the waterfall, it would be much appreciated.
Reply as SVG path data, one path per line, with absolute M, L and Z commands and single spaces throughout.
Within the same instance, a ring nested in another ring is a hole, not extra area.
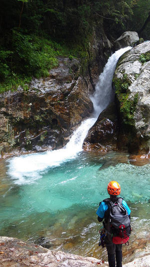
M 150 138 L 150 41 L 119 59 L 113 85 L 119 113 L 119 148 L 148 153 Z

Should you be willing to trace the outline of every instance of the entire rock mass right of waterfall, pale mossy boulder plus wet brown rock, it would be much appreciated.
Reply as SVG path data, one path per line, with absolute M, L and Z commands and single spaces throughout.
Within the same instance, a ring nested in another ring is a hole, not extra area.
M 85 150 L 122 150 L 146 157 L 150 138 L 149 60 L 149 41 L 120 57 L 113 77 L 117 111 L 112 104 L 99 115 L 84 140 Z

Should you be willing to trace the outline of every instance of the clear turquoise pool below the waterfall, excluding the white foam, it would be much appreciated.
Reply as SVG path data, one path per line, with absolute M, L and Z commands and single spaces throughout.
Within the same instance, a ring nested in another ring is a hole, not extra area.
M 119 163 L 120 158 L 126 163 Z M 1 235 L 76 254 L 105 255 L 97 246 L 101 224 L 95 212 L 99 201 L 108 197 L 110 180 L 119 182 L 120 196 L 131 209 L 135 228 L 131 238 L 135 238 L 137 225 L 143 232 L 150 226 L 150 164 L 131 165 L 124 154 L 80 152 L 57 166 L 38 171 L 37 179 L 27 174 L 23 180 L 11 176 L 10 166 L 11 160 L 1 162 Z

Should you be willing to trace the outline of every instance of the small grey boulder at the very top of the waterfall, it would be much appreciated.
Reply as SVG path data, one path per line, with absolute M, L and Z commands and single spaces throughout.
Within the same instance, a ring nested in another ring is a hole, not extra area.
M 133 46 L 138 42 L 138 34 L 136 32 L 124 32 L 117 40 L 114 42 L 115 50 L 123 47 Z

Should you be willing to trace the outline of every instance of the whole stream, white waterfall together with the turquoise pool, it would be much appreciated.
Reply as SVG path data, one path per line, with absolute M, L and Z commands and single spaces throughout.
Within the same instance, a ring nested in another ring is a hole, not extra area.
M 113 99 L 115 66 L 129 49 L 120 49 L 108 59 L 91 96 L 94 113 L 64 148 L 0 160 L 0 235 L 106 260 L 106 250 L 98 247 L 102 224 L 95 212 L 99 201 L 108 197 L 108 182 L 116 180 L 131 209 L 131 243 L 146 242 L 150 165 L 134 166 L 125 153 L 82 151 L 88 129 Z

